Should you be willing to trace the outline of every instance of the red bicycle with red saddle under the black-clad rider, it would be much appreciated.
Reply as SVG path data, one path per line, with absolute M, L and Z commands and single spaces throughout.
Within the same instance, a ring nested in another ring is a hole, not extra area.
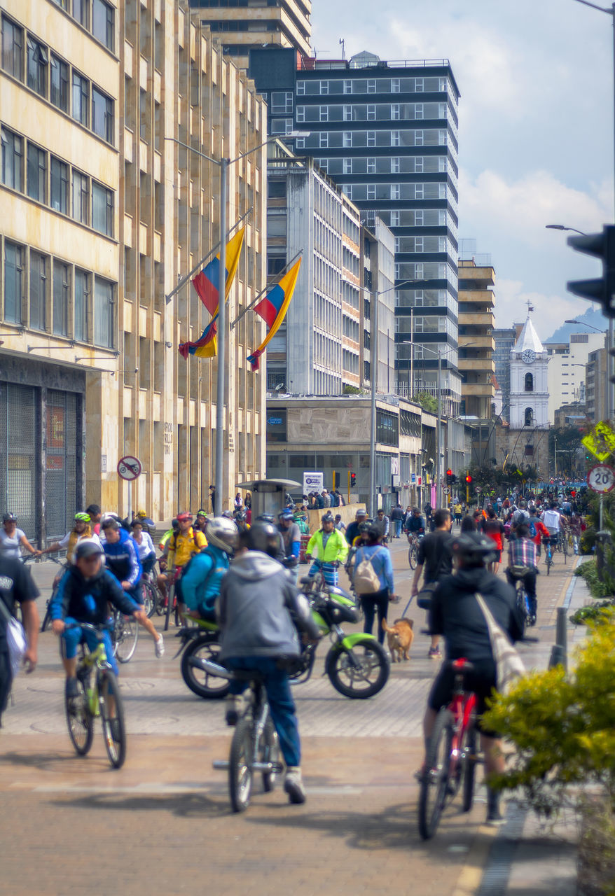
M 472 672 L 467 659 L 454 659 L 453 699 L 436 717 L 425 770 L 420 780 L 419 832 L 429 840 L 437 831 L 447 803 L 462 789 L 463 812 L 474 800 L 474 772 L 477 757 L 476 695 L 466 691 L 463 676 Z

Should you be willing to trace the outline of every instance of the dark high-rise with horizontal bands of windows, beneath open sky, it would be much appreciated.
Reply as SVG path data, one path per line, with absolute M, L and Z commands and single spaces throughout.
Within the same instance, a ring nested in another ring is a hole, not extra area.
M 461 405 L 457 365 L 457 104 L 451 66 L 250 52 L 248 73 L 267 100 L 272 134 L 305 129 L 298 153 L 316 159 L 361 210 L 394 234 L 396 360 L 403 392 L 437 392 L 449 414 Z

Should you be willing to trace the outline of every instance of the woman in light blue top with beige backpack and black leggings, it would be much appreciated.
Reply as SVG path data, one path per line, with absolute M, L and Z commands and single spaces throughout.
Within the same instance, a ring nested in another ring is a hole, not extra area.
M 374 617 L 377 615 L 377 639 L 384 644 L 385 630 L 382 621 L 386 618 L 389 600 L 394 603 L 399 600 L 394 594 L 393 563 L 390 552 L 383 547 L 380 526 L 376 523 L 368 526 L 363 538 L 355 557 L 353 584 L 365 614 L 363 631 L 372 633 Z

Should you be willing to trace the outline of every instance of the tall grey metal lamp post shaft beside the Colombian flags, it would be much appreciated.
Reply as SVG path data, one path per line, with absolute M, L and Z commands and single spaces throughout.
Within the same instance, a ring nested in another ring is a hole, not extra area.
M 216 391 L 216 463 L 215 513 L 221 516 L 224 494 L 224 385 L 226 382 L 226 349 L 229 336 L 226 309 L 226 216 L 229 202 L 229 159 L 220 159 L 220 269 L 218 279 L 218 380 Z

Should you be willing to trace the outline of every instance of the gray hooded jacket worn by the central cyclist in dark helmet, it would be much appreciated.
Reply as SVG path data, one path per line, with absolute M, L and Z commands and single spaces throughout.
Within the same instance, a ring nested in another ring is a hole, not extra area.
M 261 551 L 248 551 L 230 564 L 216 612 L 221 659 L 299 656 L 297 627 L 319 637 L 305 597 L 282 565 Z

